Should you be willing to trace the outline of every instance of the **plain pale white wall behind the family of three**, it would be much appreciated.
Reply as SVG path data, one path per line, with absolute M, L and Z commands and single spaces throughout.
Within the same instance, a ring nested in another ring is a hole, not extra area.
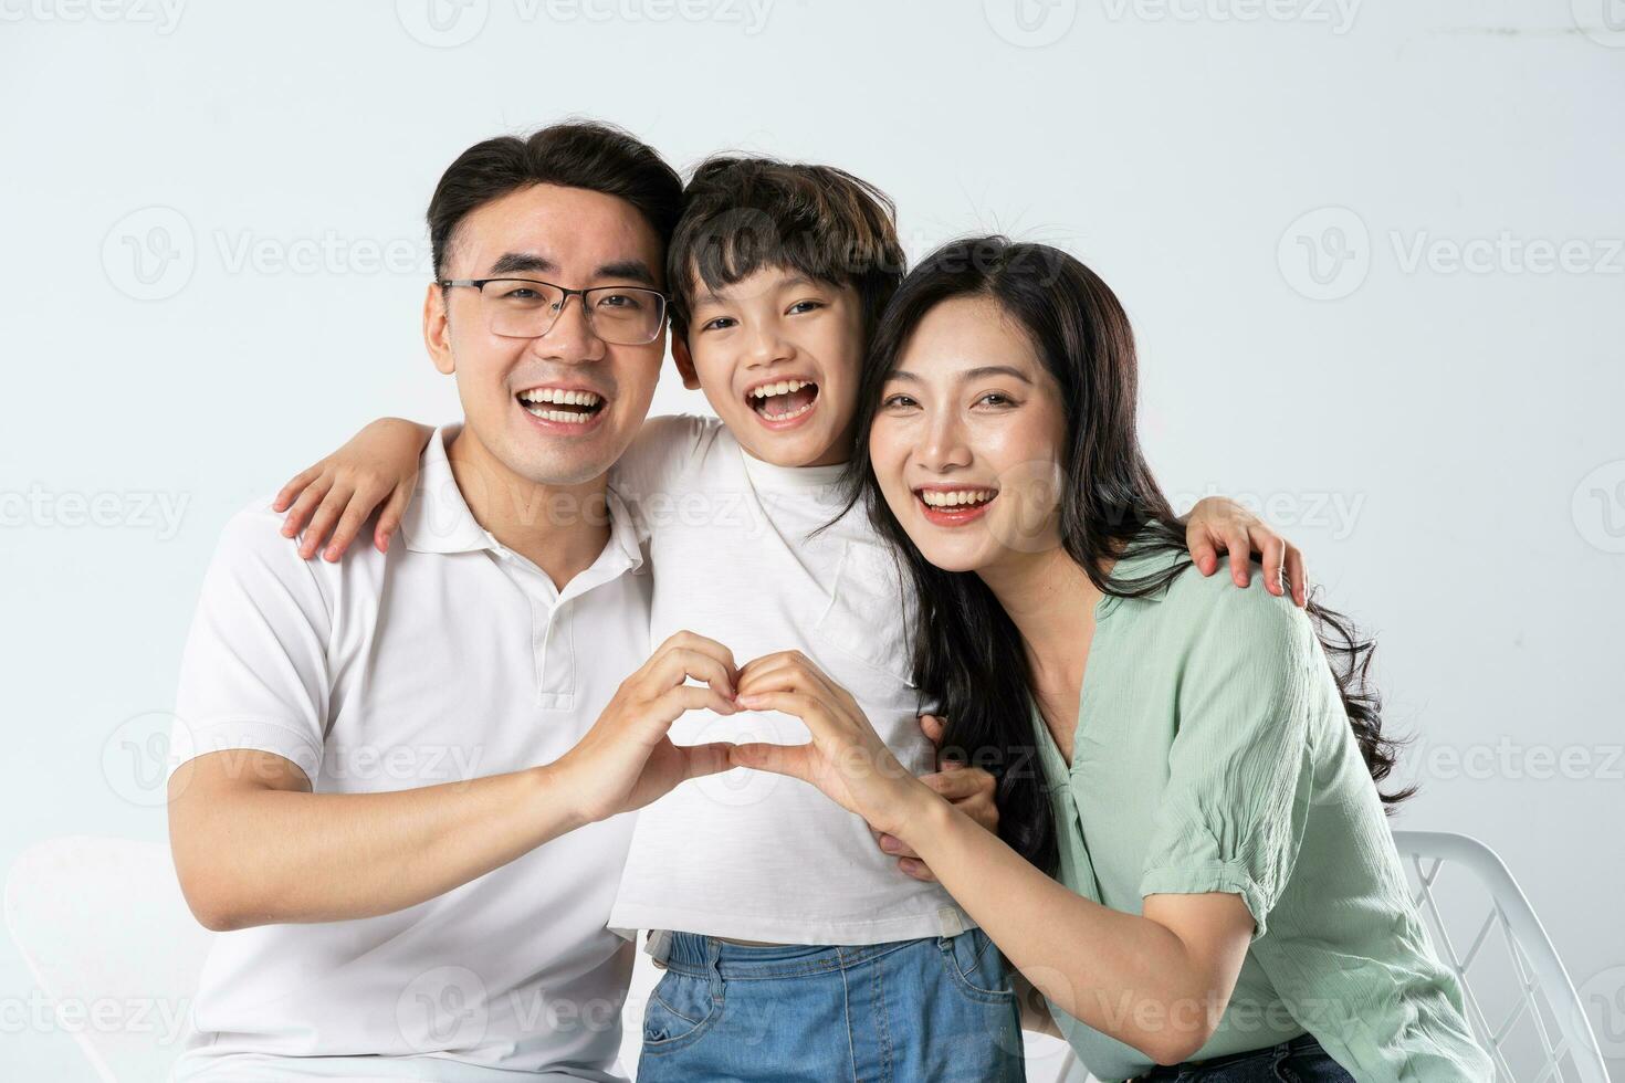
M 843 166 L 915 257 L 1095 266 L 1164 485 L 1266 503 L 1380 635 L 1401 823 L 1505 856 L 1625 1057 L 1618 0 L 434 2 L 0 0 L 0 867 L 164 838 L 109 749 L 172 703 L 219 526 L 372 416 L 455 417 L 429 192 L 585 114 Z M 31 989 L 0 940 L 0 1075 L 93 1078 Z

